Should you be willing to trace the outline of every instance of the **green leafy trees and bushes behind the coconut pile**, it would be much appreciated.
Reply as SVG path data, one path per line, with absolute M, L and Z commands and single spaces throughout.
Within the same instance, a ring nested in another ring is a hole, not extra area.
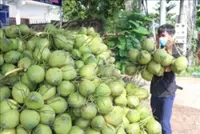
M 155 14 L 146 14 L 138 0 L 134 0 L 132 11 L 126 11 L 124 0 L 63 0 L 64 18 L 68 28 L 93 26 L 112 49 L 116 66 L 122 73 L 128 62 L 127 54 L 132 48 L 139 48 L 141 40 L 151 31 L 152 19 L 159 23 L 160 3 Z M 176 22 L 170 11 L 176 7 L 173 0 L 167 0 L 167 22 Z M 197 6 L 197 10 L 200 6 Z M 197 12 L 196 28 L 200 31 L 200 12 Z

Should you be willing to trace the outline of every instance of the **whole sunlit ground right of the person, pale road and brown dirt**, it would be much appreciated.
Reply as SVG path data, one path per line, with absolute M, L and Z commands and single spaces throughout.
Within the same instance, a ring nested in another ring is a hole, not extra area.
M 200 78 L 179 77 L 171 120 L 173 134 L 200 134 Z

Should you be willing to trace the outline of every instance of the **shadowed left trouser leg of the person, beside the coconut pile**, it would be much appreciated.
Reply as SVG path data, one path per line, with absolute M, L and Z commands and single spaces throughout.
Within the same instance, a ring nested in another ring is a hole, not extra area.
M 151 110 L 154 118 L 160 122 L 162 114 L 162 100 L 159 97 L 151 96 Z

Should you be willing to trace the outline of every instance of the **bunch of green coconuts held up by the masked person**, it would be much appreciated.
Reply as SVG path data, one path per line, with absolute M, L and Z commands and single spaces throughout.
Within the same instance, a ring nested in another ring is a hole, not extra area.
M 134 76 L 140 74 L 144 80 L 151 81 L 153 76 L 163 76 L 166 67 L 174 73 L 180 74 L 188 67 L 188 60 L 180 55 L 175 58 L 167 53 L 165 48 L 155 47 L 154 41 L 145 38 L 140 49 L 131 49 L 128 52 L 126 74 Z

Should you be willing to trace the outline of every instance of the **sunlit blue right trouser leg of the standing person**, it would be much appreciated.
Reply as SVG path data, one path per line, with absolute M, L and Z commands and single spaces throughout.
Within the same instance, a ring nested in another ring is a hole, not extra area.
M 171 130 L 171 116 L 175 96 L 163 98 L 163 109 L 160 124 L 162 126 L 162 134 L 172 134 Z

